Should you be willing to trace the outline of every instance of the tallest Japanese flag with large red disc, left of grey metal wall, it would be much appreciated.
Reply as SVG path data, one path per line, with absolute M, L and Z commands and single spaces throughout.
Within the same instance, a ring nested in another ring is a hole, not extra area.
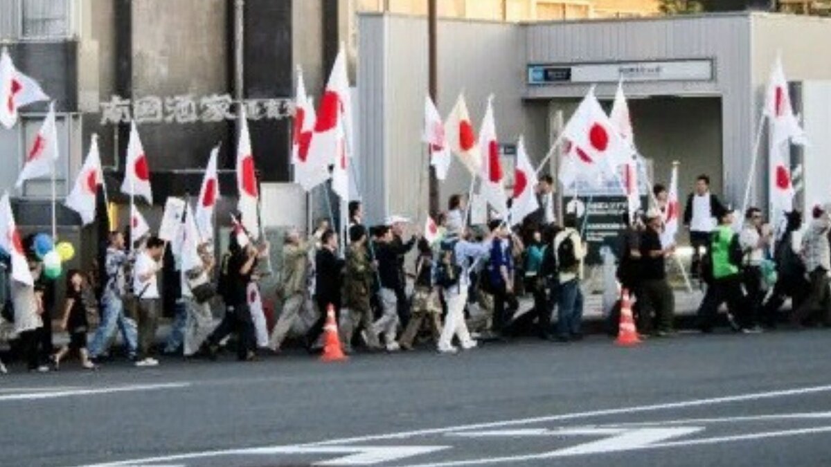
M 351 132 L 352 101 L 349 96 L 347 58 L 341 47 L 317 110 L 314 135 L 309 145 L 309 159 L 313 163 L 333 166 L 332 190 L 342 199 L 349 199 Z

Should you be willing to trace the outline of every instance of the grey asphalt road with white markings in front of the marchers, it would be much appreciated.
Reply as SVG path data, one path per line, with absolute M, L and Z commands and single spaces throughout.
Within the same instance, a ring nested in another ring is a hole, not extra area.
M 0 465 L 831 465 L 831 332 L 0 377 Z M 110 464 L 107 464 L 110 463 Z

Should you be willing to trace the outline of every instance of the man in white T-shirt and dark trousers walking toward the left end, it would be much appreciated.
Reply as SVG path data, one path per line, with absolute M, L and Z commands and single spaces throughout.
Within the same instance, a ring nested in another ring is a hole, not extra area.
M 133 290 L 139 310 L 139 358 L 135 366 L 159 364 L 159 361 L 150 356 L 150 348 L 155 343 L 156 329 L 159 326 L 161 296 L 157 276 L 162 268 L 160 260 L 163 253 L 165 242 L 158 237 L 150 237 L 145 248 L 135 258 Z

